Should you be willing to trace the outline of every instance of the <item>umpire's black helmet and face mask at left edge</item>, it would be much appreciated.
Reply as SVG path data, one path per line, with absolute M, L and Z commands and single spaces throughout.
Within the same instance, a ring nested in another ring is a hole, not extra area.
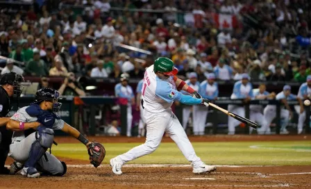
M 12 85 L 13 86 L 13 97 L 19 97 L 22 94 L 24 86 L 21 86 L 21 82 L 24 82 L 24 77 L 15 72 L 3 74 L 0 79 L 1 85 Z

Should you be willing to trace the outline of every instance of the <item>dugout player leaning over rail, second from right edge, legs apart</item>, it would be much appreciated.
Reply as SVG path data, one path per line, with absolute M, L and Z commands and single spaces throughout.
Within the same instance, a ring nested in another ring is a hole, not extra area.
M 281 106 L 280 108 L 280 118 L 283 119 L 283 122 L 281 122 L 281 129 L 280 133 L 287 134 L 288 131 L 286 129 L 286 126 L 289 121 L 289 117 L 292 117 L 292 109 L 287 104 L 287 100 L 299 100 L 299 103 L 301 104 L 301 108 L 303 108 L 303 104 L 301 99 L 297 98 L 295 94 L 291 94 L 291 87 L 289 85 L 284 85 L 283 91 L 276 94 L 276 99 L 280 100 L 284 106 Z M 274 120 L 274 117 L 276 117 L 276 106 L 275 105 L 267 105 L 266 108 L 264 108 L 264 119 L 265 124 L 262 125 L 260 129 L 258 129 L 260 133 L 264 134 L 270 134 L 270 124 L 272 120 Z

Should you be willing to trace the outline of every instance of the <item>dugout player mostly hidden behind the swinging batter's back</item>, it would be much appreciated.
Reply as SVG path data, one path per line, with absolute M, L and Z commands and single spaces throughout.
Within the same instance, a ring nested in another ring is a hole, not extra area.
M 140 101 L 142 101 L 142 84 L 143 83 L 144 83 L 144 79 L 140 80 L 136 88 L 136 110 L 140 111 L 140 122 L 138 124 L 138 137 L 144 136 L 144 133 L 145 133 L 144 126 L 146 124 L 144 122 L 144 116 L 142 115 L 142 112 L 143 112 L 142 103 L 140 103 Z

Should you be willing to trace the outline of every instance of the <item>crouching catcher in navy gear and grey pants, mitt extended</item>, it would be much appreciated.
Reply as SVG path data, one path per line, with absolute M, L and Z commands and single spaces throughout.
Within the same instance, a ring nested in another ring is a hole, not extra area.
M 6 125 L 14 131 L 9 156 L 15 162 L 10 167 L 10 174 L 21 174 L 37 178 L 40 173 L 62 176 L 67 172 L 67 166 L 51 154 L 54 142 L 54 131 L 62 130 L 82 142 L 90 155 L 94 167 L 98 167 L 106 155 L 103 145 L 89 142 L 79 131 L 65 123 L 55 113 L 62 105 L 58 102 L 59 92 L 50 88 L 42 88 L 35 94 L 31 106 L 17 110 Z M 47 152 L 47 149 L 50 151 Z

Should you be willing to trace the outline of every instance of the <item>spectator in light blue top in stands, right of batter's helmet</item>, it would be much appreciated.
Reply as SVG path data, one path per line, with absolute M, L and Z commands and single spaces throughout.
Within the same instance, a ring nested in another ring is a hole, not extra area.
M 230 79 L 233 79 L 233 69 L 225 63 L 226 60 L 220 58 L 218 60 L 218 65 L 214 67 L 214 73 L 217 79 L 229 81 Z

